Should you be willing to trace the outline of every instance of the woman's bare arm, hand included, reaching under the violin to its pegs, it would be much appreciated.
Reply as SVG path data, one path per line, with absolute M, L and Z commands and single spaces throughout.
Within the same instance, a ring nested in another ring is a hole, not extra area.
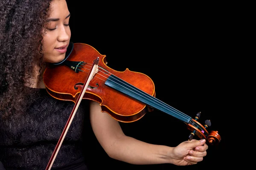
M 193 141 L 181 143 L 180 147 L 169 147 L 157 144 L 148 144 L 132 137 L 126 136 L 119 122 L 113 119 L 108 113 L 101 112 L 101 107 L 97 102 L 91 102 L 90 105 L 90 121 L 93 132 L 99 143 L 106 151 L 108 156 L 113 159 L 125 161 L 131 164 L 196 164 L 203 160 L 206 156 L 207 145 L 202 145 L 199 141 L 193 146 L 198 147 L 198 151 L 194 154 L 197 156 L 188 156 L 190 160 L 186 160 L 190 150 L 184 148 L 185 145 L 192 145 Z M 200 144 L 200 145 L 198 145 Z M 188 146 L 188 147 L 189 147 Z M 191 147 L 191 146 L 190 146 Z M 200 152 L 202 151 L 202 152 Z M 185 154 L 187 152 L 187 154 Z M 192 152 L 192 151 L 191 151 Z M 184 160 L 185 159 L 185 160 Z M 188 162 L 189 161 L 189 162 Z

